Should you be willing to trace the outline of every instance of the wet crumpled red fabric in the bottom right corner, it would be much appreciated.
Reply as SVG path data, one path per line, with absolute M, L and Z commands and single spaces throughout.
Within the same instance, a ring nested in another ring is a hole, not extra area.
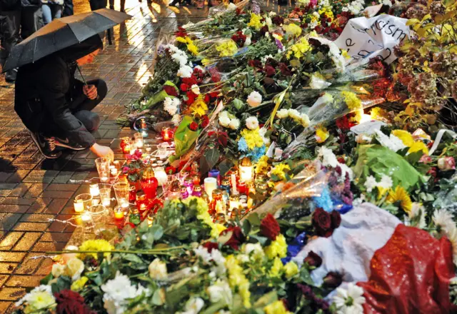
M 448 238 L 398 225 L 370 269 L 369 281 L 357 283 L 365 291 L 364 313 L 449 313 L 454 266 Z

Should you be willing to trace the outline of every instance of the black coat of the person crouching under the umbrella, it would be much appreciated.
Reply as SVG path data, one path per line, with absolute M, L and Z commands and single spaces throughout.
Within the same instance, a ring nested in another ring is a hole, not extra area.
M 100 37 L 96 35 L 19 68 L 14 110 L 26 128 L 46 136 L 68 137 L 86 148 L 94 145 L 94 136 L 71 113 L 69 100 L 74 89 L 75 61 L 101 46 Z

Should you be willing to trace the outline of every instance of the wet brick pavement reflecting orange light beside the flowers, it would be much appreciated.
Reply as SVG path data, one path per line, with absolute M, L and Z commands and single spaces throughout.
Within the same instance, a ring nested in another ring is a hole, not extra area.
M 263 5 L 282 9 L 273 1 Z M 90 11 L 89 1 L 76 0 L 75 13 L 83 11 Z M 151 76 L 160 30 L 199 21 L 208 9 L 128 0 L 126 12 L 133 18 L 114 28 L 113 45 L 105 40 L 104 51 L 83 69 L 86 78 L 103 78 L 108 84 L 109 93 L 95 110 L 102 120 L 95 136 L 114 149 L 116 159 L 123 156 L 113 138 L 133 133 L 116 125 L 116 118 L 124 105 L 140 96 Z M 49 258 L 31 258 L 62 250 L 71 238 L 73 226 L 49 219 L 74 216 L 74 196 L 89 193 L 89 187 L 70 182 L 96 177 L 95 158 L 90 151 L 66 153 L 56 161 L 42 158 L 14 113 L 14 85 L 0 78 L 0 313 L 10 313 L 26 289 L 39 285 L 49 273 Z

